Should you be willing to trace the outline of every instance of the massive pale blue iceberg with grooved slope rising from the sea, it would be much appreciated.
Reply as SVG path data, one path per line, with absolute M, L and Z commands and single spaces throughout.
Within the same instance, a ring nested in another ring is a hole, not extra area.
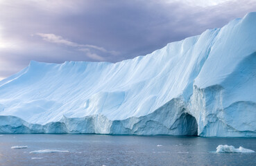
M 0 82 L 0 133 L 256 136 L 256 12 L 108 62 L 31 62 Z

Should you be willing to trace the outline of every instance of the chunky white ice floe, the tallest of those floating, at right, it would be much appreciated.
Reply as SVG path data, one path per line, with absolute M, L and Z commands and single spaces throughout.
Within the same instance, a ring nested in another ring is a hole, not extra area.
M 244 147 L 235 149 L 233 146 L 229 145 L 219 145 L 216 149 L 216 153 L 255 153 L 255 151 L 251 149 L 246 149 Z

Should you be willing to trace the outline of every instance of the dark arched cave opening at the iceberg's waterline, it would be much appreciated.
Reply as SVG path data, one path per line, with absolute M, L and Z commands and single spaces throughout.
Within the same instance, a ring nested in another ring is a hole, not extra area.
M 196 118 L 189 113 L 182 113 L 180 116 L 178 127 L 180 127 L 180 135 L 183 136 L 197 136 L 198 124 Z

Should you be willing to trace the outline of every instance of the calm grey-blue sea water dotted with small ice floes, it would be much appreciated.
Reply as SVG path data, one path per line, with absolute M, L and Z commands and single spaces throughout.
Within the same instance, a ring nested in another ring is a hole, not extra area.
M 256 165 L 256 153 L 217 154 L 218 145 L 256 151 L 256 138 L 2 134 L 0 165 Z

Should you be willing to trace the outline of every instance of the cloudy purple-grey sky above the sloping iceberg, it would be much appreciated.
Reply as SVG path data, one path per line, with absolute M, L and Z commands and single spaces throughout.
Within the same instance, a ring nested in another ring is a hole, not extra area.
M 0 0 L 0 80 L 31 60 L 146 55 L 253 11 L 256 0 Z

